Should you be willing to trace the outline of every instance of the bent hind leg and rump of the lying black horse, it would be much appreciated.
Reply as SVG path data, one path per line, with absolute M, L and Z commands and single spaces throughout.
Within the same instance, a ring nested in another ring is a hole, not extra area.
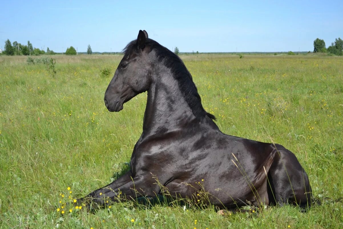
M 268 174 L 268 195 L 271 204 L 293 204 L 301 208 L 311 205 L 308 176 L 296 156 L 282 145 L 272 145 L 275 159 Z

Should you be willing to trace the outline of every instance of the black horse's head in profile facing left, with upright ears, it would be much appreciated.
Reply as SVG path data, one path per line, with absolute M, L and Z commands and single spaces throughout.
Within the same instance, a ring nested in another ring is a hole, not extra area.
M 123 109 L 123 104 L 149 89 L 149 48 L 147 33 L 140 30 L 137 40 L 126 47 L 124 57 L 105 92 L 105 105 L 111 112 Z

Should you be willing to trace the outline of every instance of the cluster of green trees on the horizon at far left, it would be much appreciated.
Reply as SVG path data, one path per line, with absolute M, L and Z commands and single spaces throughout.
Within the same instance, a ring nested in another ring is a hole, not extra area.
M 44 50 L 40 50 L 39 48 L 34 48 L 30 41 L 27 41 L 27 45 L 22 45 L 21 43 L 18 42 L 13 42 L 11 43 L 9 39 L 5 41 L 5 47 L 3 50 L 3 54 L 13 56 L 13 55 L 41 55 L 41 54 L 49 54 L 49 55 L 54 55 L 56 54 L 54 51 L 49 50 L 47 48 L 47 51 L 45 52 Z

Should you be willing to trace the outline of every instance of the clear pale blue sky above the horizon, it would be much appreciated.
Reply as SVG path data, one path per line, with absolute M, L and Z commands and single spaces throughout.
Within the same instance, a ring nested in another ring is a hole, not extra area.
M 147 3 L 149 2 L 149 3 Z M 313 51 L 343 39 L 343 1 L 7 1 L 0 47 L 10 39 L 55 52 L 121 51 L 138 31 L 180 52 Z

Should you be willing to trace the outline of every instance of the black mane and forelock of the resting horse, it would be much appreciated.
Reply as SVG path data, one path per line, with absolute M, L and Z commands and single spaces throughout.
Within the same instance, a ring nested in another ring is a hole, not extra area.
M 127 44 L 123 50 L 124 55 L 129 54 L 132 48 L 137 48 L 136 41 L 137 40 L 133 40 Z M 198 119 L 208 116 L 215 120 L 215 116 L 206 112 L 202 107 L 197 87 L 180 57 L 152 39 L 146 39 L 145 45 L 151 47 L 152 50 L 155 50 L 158 61 L 163 62 L 165 66 L 171 70 L 173 77 L 178 81 L 181 93 L 192 109 L 193 114 Z

